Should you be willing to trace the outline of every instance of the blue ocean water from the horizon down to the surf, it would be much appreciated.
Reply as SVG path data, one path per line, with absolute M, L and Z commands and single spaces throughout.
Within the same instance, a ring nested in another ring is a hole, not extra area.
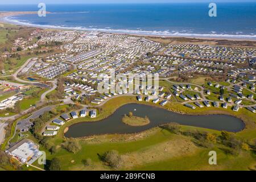
M 0 11 L 38 11 L 37 5 L 0 5 Z M 256 2 L 217 3 L 209 17 L 208 3 L 47 5 L 37 14 L 5 18 L 28 26 L 121 32 L 161 36 L 205 36 L 256 39 Z

